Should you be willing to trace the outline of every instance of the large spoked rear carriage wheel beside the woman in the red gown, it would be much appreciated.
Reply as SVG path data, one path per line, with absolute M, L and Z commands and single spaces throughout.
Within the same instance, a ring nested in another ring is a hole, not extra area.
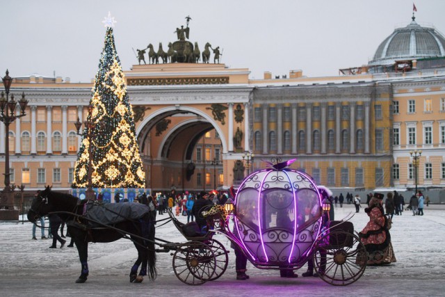
M 346 286 L 358 280 L 366 268 L 366 248 L 359 236 L 332 231 L 319 241 L 314 252 L 320 278 L 334 286 Z

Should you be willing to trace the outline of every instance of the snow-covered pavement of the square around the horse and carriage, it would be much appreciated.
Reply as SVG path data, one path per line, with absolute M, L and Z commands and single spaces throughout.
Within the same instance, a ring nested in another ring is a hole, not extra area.
M 355 212 L 353 204 L 335 208 L 337 220 Z M 75 284 L 80 274 L 76 248 L 49 249 L 50 240 L 31 240 L 29 222 L 0 223 L 0 296 L 444 296 L 445 295 L 445 205 L 425 207 L 424 216 L 394 216 L 391 229 L 397 262 L 368 266 L 362 278 L 346 287 L 334 287 L 319 278 L 283 279 L 278 271 L 259 270 L 248 264 L 250 280 L 235 280 L 234 252 L 221 278 L 200 286 L 180 282 L 172 270 L 170 253 L 158 254 L 158 278 L 141 284 L 129 282 L 136 259 L 131 241 L 90 243 L 90 275 L 85 284 Z M 167 217 L 165 214 L 161 216 Z M 159 219 L 160 216 L 157 217 Z M 186 222 L 185 216 L 180 216 Z M 364 206 L 352 222 L 362 230 L 368 216 Z M 156 237 L 186 242 L 172 223 L 156 228 Z M 70 239 L 70 238 L 67 238 Z M 227 239 L 216 239 L 229 246 Z M 60 246 L 60 243 L 58 243 Z

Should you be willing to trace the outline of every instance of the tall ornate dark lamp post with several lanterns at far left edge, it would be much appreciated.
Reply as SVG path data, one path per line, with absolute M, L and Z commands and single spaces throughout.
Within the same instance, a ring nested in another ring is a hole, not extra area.
M 9 71 L 6 70 L 5 77 L 2 78 L 3 86 L 5 87 L 5 94 L 1 92 L 0 98 L 0 121 L 5 125 L 5 188 L 1 192 L 1 202 L 6 204 L 13 204 L 14 189 L 10 186 L 10 168 L 9 168 L 9 125 L 17 118 L 22 118 L 26 115 L 25 109 L 28 105 L 28 100 L 25 99 L 25 93 L 22 93 L 22 99 L 19 102 L 14 100 L 14 95 L 9 99 L 9 90 L 13 83 L 13 78 L 9 76 Z M 17 103 L 22 111 L 20 114 L 15 114 Z M 18 136 L 17 136 L 18 137 Z M 15 187 L 14 187 L 15 188 Z M 6 207 L 7 208 L 7 207 Z

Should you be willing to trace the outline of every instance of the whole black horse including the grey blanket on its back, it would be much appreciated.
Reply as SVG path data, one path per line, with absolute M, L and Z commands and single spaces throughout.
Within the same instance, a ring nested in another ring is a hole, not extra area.
M 131 215 L 135 211 L 138 215 Z M 114 222 L 107 222 L 103 216 L 103 219 L 99 219 L 101 212 L 114 216 Z M 57 214 L 67 224 L 79 252 L 81 275 L 76 283 L 86 282 L 88 278 L 88 242 L 107 243 L 123 237 L 131 239 L 138 250 L 138 259 L 130 270 L 130 282 L 142 282 L 147 273 L 149 280 L 156 278 L 155 222 L 145 204 L 101 204 L 92 200 L 79 200 L 70 194 L 51 191 L 47 186 L 33 199 L 28 220 L 35 223 L 38 218 L 50 213 Z M 138 275 L 140 264 L 142 267 Z

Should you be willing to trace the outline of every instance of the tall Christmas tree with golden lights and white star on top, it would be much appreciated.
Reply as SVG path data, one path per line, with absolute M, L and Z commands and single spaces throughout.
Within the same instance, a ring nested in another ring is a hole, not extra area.
M 86 127 L 74 168 L 73 188 L 144 188 L 133 109 L 115 49 L 113 22 L 107 26 L 99 70 L 92 88 Z M 91 166 L 91 172 L 88 172 Z

